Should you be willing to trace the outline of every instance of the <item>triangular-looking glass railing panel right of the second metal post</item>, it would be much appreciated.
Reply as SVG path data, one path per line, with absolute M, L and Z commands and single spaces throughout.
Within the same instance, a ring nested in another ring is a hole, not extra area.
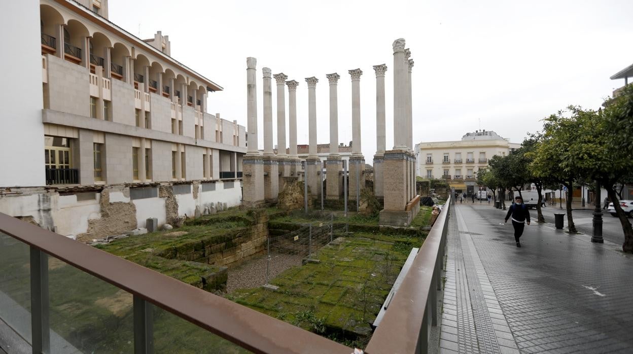
M 251 353 L 173 313 L 156 306 L 152 308 L 156 353 Z

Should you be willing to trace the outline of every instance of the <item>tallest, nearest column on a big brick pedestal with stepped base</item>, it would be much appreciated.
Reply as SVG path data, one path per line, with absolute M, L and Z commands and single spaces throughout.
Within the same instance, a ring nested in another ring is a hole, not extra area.
M 415 156 L 407 146 L 408 130 L 413 129 L 407 113 L 408 65 L 404 39 L 393 42 L 394 52 L 394 148 L 384 153 L 384 209 L 380 225 L 404 227 L 411 224 L 420 210 L 417 197 L 411 198 L 411 165 Z

